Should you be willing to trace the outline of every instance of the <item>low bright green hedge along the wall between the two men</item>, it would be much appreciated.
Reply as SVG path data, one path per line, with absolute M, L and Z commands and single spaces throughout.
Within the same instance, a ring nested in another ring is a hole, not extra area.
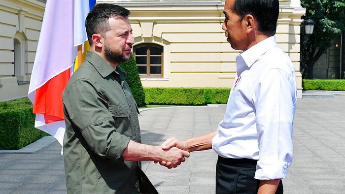
M 226 104 L 230 88 L 144 88 L 146 104 Z

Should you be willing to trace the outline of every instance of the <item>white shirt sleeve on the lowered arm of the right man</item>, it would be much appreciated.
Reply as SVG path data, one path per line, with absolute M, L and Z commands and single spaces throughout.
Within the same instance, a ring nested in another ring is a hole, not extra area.
M 259 161 L 255 178 L 282 179 L 293 158 L 293 76 L 281 69 L 263 75 L 255 92 Z

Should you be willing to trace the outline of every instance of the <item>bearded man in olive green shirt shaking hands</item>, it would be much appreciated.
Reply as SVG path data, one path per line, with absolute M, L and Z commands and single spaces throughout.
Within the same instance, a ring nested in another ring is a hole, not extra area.
M 129 14 L 98 4 L 86 18 L 90 51 L 63 94 L 68 193 L 157 193 L 140 161 L 176 167 L 189 157 L 177 148 L 141 144 L 137 104 L 118 65 L 129 60 L 134 44 Z

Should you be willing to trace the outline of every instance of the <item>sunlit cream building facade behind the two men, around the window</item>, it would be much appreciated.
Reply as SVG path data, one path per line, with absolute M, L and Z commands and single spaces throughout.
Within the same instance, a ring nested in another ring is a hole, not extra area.
M 163 78 L 141 78 L 144 87 L 231 87 L 240 52 L 231 48 L 221 29 L 224 0 L 115 3 L 131 10 L 136 45 L 152 42 L 164 46 Z M 295 65 L 299 95 L 299 33 L 304 14 L 300 0 L 280 0 L 276 39 Z

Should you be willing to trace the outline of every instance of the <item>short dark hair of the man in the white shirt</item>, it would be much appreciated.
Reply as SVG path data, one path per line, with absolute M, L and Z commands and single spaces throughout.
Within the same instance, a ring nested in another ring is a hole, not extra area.
M 259 32 L 276 33 L 279 0 L 235 0 L 233 11 L 241 17 L 252 15 L 259 23 Z

